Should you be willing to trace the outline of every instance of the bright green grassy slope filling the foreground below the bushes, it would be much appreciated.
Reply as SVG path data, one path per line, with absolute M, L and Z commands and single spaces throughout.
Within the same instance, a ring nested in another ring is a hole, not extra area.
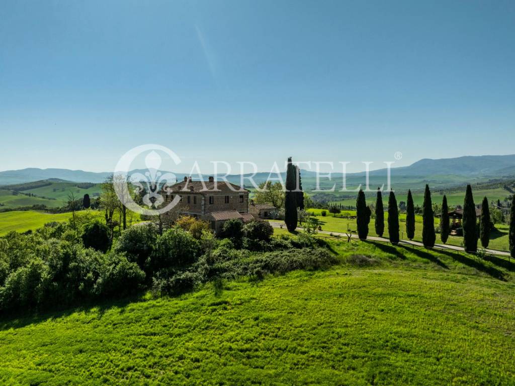
M 0 383 L 513 384 L 513 264 L 332 248 L 323 272 L 4 321 Z

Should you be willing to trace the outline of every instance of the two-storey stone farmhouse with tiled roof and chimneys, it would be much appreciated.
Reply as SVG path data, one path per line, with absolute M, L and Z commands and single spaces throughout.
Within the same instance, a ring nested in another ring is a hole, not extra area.
M 162 189 L 163 205 L 178 195 L 180 202 L 176 213 L 208 221 L 211 228 L 219 232 L 225 221 L 239 219 L 248 222 L 254 219 L 249 213 L 249 190 L 225 181 L 192 181 L 191 177 L 167 189 Z

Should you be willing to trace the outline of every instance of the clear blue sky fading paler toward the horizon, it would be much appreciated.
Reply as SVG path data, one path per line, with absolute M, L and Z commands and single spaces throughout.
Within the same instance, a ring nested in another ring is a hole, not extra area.
M 514 133 L 512 0 L 0 2 L 0 170 L 158 143 L 357 171 L 512 154 Z

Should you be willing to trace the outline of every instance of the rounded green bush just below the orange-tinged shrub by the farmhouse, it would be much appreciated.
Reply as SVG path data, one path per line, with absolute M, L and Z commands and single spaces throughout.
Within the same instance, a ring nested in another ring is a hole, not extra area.
M 200 244 L 193 236 L 180 229 L 172 228 L 157 238 L 156 250 L 151 264 L 154 271 L 170 267 L 185 267 L 195 262 Z

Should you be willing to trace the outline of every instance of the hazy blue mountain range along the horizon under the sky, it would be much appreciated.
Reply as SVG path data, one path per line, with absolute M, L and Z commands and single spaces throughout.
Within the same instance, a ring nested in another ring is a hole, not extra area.
M 341 175 L 335 170 L 334 177 Z M 21 170 L 0 171 L 0 185 L 21 184 L 26 182 L 60 179 L 72 182 L 100 183 L 104 181 L 111 172 L 92 172 L 84 170 L 68 169 L 38 169 L 27 168 Z M 184 173 L 177 173 L 180 179 Z M 363 176 L 364 172 L 349 173 L 349 177 Z M 370 176 L 385 176 L 386 169 L 374 170 Z M 246 174 L 245 177 L 250 177 Z M 439 160 L 423 159 L 410 166 L 391 169 L 392 179 L 402 177 L 413 177 L 418 179 L 434 180 L 438 176 L 457 176 L 461 178 L 473 177 L 474 179 L 493 179 L 515 176 L 515 154 L 511 155 L 480 155 L 463 156 Z M 229 176 L 231 182 L 239 182 L 239 175 Z M 262 182 L 268 177 L 268 172 L 260 172 L 254 176 L 254 181 Z M 303 178 L 314 178 L 313 171 L 302 170 Z M 283 173 L 284 178 L 284 173 Z

